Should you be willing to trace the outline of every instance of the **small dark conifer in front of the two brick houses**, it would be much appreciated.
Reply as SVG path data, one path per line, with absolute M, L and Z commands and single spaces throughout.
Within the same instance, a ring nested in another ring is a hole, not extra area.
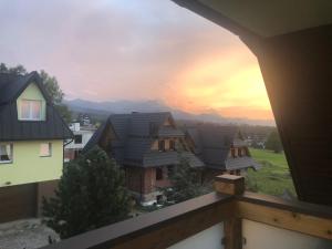
M 168 176 L 172 187 L 160 189 L 168 203 L 181 203 L 210 190 L 208 185 L 201 184 L 199 170 L 191 168 L 189 162 L 181 155 L 179 158 L 179 165 L 175 166 L 174 172 Z

